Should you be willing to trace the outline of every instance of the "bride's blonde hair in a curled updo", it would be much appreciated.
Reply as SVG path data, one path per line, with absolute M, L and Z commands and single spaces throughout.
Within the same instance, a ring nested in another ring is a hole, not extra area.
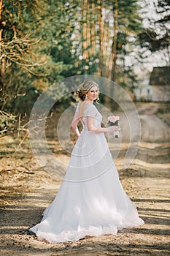
M 99 90 L 99 86 L 97 83 L 95 83 L 93 80 L 85 80 L 78 88 L 77 88 L 77 94 L 78 97 L 82 100 L 85 99 L 86 93 L 93 87 L 97 86 Z

